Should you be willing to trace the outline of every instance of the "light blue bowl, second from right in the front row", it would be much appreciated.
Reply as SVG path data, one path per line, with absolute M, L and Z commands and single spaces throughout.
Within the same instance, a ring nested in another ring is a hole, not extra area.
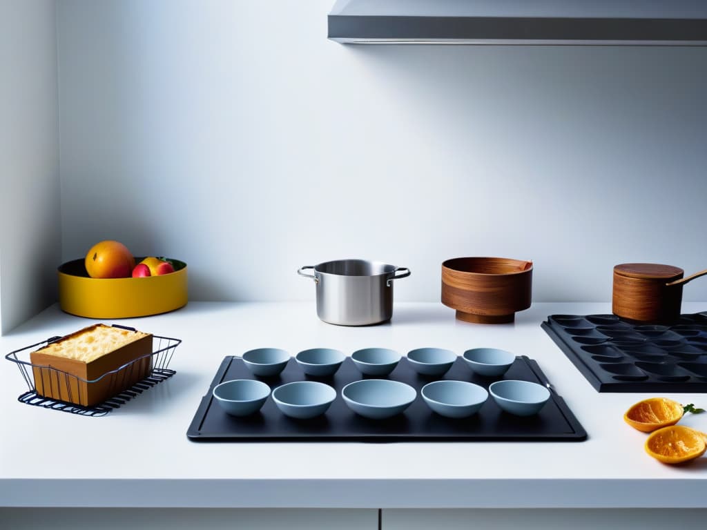
M 489 399 L 489 392 L 478 384 L 446 379 L 426 384 L 420 394 L 429 408 L 448 418 L 472 416 Z

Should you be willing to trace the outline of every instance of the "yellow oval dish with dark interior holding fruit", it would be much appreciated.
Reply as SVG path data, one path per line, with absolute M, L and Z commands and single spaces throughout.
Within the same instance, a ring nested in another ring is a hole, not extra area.
M 147 317 L 177 310 L 187 305 L 187 264 L 170 261 L 175 272 L 147 278 L 90 278 L 83 258 L 67 261 L 57 269 L 59 307 L 94 319 Z

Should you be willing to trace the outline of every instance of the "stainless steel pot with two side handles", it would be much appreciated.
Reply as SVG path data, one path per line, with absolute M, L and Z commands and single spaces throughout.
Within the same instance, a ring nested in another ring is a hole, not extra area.
M 306 274 L 313 269 L 314 274 Z M 410 269 L 380 261 L 339 259 L 300 267 L 300 276 L 317 284 L 317 316 L 329 324 L 366 326 L 390 320 L 393 280 L 410 276 Z

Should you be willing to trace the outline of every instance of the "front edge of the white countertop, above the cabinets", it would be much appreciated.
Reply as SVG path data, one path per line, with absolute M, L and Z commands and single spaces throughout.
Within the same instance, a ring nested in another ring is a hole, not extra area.
M 5 479 L 0 507 L 705 508 L 695 480 Z

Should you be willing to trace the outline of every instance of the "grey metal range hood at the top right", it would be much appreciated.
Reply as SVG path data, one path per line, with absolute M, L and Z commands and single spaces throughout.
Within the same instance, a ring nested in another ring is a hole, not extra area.
M 706 46 L 707 0 L 337 0 L 329 39 Z

